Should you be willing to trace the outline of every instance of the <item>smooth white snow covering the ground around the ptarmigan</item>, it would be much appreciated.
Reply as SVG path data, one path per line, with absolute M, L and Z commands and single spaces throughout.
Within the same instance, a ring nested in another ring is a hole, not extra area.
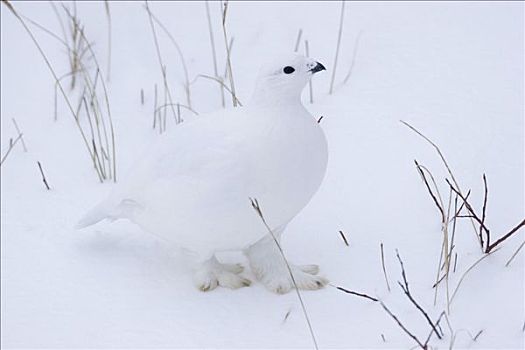
M 20 13 L 56 33 L 49 4 L 15 2 Z M 106 69 L 107 26 L 102 2 L 79 2 L 78 15 Z M 204 3 L 150 3 L 180 44 L 190 79 L 213 74 Z M 220 70 L 224 43 L 219 3 L 210 3 Z M 154 141 L 153 85 L 161 74 L 143 4 L 110 3 L 113 28 L 111 82 L 118 169 Z M 314 115 L 330 147 L 320 192 L 284 236 L 291 261 L 316 263 L 334 285 L 379 297 L 419 338 L 429 326 L 398 288 L 395 257 L 403 258 L 412 294 L 433 319 L 446 309 L 445 288 L 434 306 L 441 249 L 440 219 L 414 167 L 434 173 L 441 191 L 447 176 L 436 152 L 403 126 L 403 119 L 436 141 L 461 186 L 481 210 L 487 174 L 487 225 L 494 237 L 524 213 L 524 5 L 520 2 L 360 2 L 346 5 L 336 91 L 328 95 L 340 3 L 232 2 L 228 33 L 239 99 L 249 99 L 259 62 L 293 49 L 297 31 L 328 72 L 314 78 Z M 59 74 L 67 72 L 63 47 L 32 27 Z M 260 284 L 240 290 L 198 292 L 185 260 L 165 243 L 126 222 L 72 229 L 113 184 L 100 184 L 62 99 L 53 121 L 53 79 L 27 33 L 1 7 L 2 165 L 1 281 L 3 348 L 311 348 L 296 295 L 274 295 Z M 352 76 L 354 42 L 362 30 Z M 159 31 L 176 99 L 183 73 L 176 51 Z M 301 46 L 300 50 L 304 50 Z M 145 104 L 140 103 L 140 89 Z M 220 108 L 215 83 L 192 85 L 195 109 Z M 305 101 L 307 95 L 304 95 Z M 189 117 L 189 115 L 188 115 Z M 176 127 L 172 121 L 168 129 Z M 36 161 L 52 187 L 47 191 Z M 338 231 L 349 240 L 347 247 Z M 464 279 L 449 314 L 455 348 L 523 348 L 524 254 L 505 267 L 523 232 L 477 265 Z M 392 291 L 380 261 L 380 242 Z M 472 227 L 457 228 L 456 273 L 482 254 Z M 246 263 L 241 255 L 222 256 Z M 249 272 L 248 277 L 252 277 Z M 321 348 L 416 346 L 380 305 L 332 287 L 303 292 Z M 286 314 L 289 316 L 285 320 Z M 448 347 L 451 333 L 430 345 Z M 476 341 L 475 336 L 483 332 Z M 385 340 L 382 339 L 382 335 Z

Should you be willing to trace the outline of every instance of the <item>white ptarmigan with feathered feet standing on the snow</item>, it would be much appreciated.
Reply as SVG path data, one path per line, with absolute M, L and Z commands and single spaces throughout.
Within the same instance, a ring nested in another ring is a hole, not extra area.
M 194 282 L 203 291 L 250 284 L 240 275 L 242 266 L 222 264 L 214 255 L 242 249 L 258 280 L 274 292 L 288 292 L 289 272 L 249 198 L 257 199 L 279 239 L 321 185 L 327 143 L 301 92 L 324 69 L 300 55 L 263 66 L 248 105 L 202 115 L 165 133 L 77 227 L 126 218 L 197 253 Z M 299 288 L 328 283 L 316 265 L 291 268 Z

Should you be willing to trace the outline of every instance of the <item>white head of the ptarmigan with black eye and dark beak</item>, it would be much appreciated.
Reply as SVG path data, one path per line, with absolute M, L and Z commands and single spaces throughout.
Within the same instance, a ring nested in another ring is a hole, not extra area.
M 257 77 L 252 104 L 300 102 L 301 92 L 312 76 L 326 68 L 316 60 L 292 54 L 273 58 Z

